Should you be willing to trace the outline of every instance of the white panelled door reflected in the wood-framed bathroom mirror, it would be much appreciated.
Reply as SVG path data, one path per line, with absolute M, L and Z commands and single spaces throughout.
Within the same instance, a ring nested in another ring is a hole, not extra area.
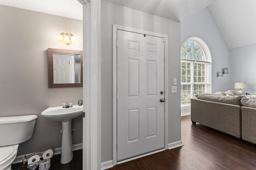
M 53 56 L 53 83 L 70 83 L 69 81 L 69 55 L 54 54 Z

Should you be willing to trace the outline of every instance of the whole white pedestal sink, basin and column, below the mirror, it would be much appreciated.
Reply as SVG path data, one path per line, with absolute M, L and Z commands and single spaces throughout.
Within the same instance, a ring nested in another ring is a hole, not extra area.
M 72 119 L 82 115 L 83 106 L 73 105 L 73 107 L 62 108 L 49 107 L 44 110 L 41 115 L 50 120 L 62 122 L 62 143 L 61 143 L 61 156 L 60 163 L 66 164 L 73 158 L 72 150 L 72 133 L 71 133 L 71 122 Z

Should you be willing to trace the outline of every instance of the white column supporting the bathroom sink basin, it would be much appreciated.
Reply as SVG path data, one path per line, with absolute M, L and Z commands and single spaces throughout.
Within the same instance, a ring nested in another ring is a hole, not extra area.
M 70 162 L 73 158 L 71 122 L 72 120 L 66 122 L 62 121 L 62 143 L 60 156 L 60 163 L 62 164 Z

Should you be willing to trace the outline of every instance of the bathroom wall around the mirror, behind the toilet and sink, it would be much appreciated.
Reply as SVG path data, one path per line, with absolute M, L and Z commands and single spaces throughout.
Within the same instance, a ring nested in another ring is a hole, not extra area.
M 40 115 L 63 102 L 77 104 L 82 88 L 48 88 L 47 48 L 82 50 L 82 21 L 0 5 L 0 116 L 38 115 L 34 134 L 18 155 L 61 147 L 61 122 Z M 74 45 L 56 41 L 63 31 Z M 82 117 L 73 120 L 73 144 L 82 143 Z

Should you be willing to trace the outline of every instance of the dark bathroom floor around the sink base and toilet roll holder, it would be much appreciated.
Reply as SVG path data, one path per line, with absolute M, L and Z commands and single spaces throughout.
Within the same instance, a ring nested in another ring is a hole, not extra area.
M 60 154 L 54 155 L 51 170 L 82 170 L 82 155 L 82 149 L 75 150 L 73 159 L 67 164 L 60 163 Z M 12 170 L 28 170 L 28 168 L 18 163 L 12 165 Z

